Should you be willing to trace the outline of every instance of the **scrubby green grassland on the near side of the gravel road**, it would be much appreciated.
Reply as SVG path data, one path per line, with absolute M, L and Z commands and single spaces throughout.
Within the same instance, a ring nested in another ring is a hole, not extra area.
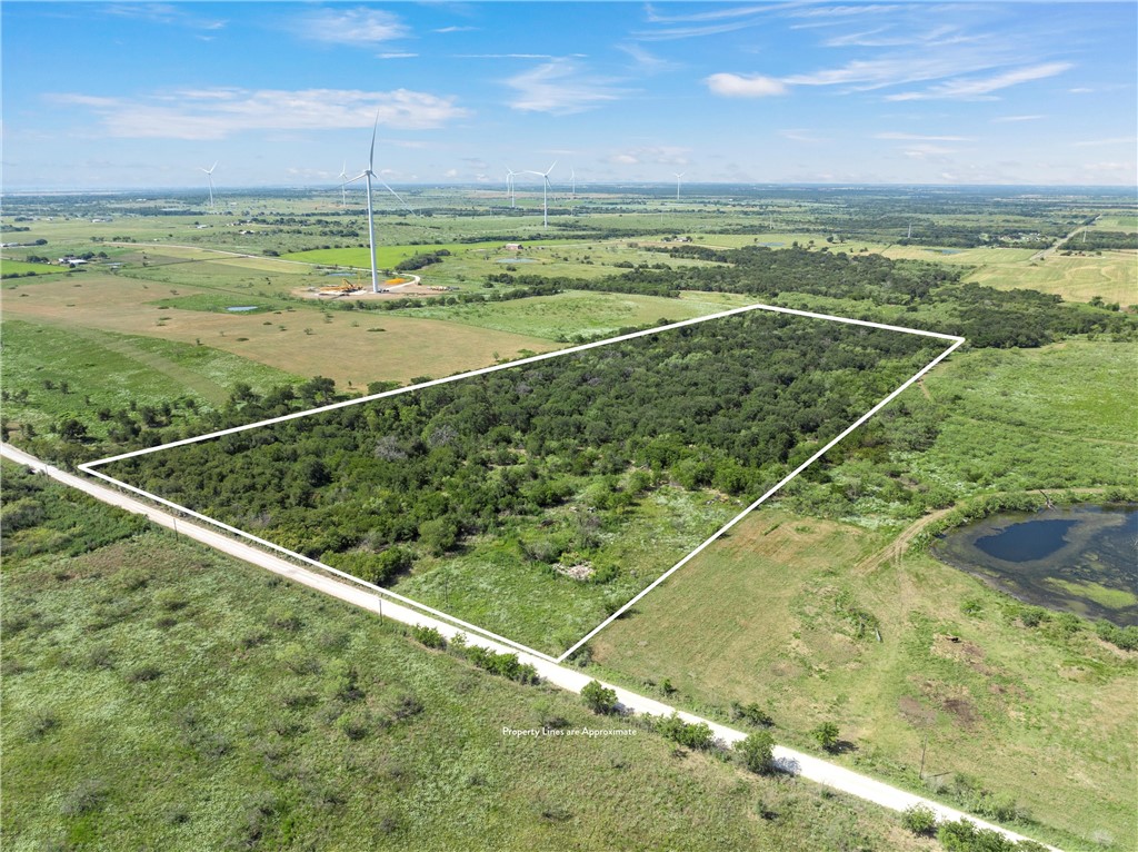
M 6 849 L 831 852 L 896 830 L 856 800 L 679 757 L 648 732 L 504 736 L 597 722 L 570 695 L 486 677 L 372 615 L 3 474 L 47 518 L 80 513 L 98 531 L 73 556 L 5 541 Z M 17 536 L 55 535 L 47 523 Z

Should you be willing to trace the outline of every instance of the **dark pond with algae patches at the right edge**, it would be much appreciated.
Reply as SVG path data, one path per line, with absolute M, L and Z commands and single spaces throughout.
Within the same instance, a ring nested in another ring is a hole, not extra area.
M 1138 506 L 993 515 L 933 544 L 942 562 L 1020 600 L 1138 624 Z

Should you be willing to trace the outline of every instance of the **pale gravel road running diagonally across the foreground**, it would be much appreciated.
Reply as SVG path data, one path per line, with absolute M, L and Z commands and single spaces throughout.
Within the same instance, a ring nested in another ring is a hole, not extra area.
M 250 565 L 256 565 L 266 571 L 271 571 L 274 574 L 287 577 L 300 585 L 308 587 L 310 589 L 314 589 L 323 595 L 328 595 L 329 597 L 344 600 L 368 612 L 378 613 L 380 617 L 393 618 L 412 626 L 434 628 L 448 640 L 452 640 L 456 636 L 461 634 L 461 631 L 450 623 L 437 621 L 428 615 L 422 615 L 421 613 L 409 609 L 399 604 L 389 603 L 387 608 L 385 608 L 384 599 L 377 595 L 372 595 L 369 591 L 356 587 L 347 585 L 338 580 L 325 576 L 324 574 L 318 574 L 307 568 L 294 565 L 279 556 L 266 554 L 265 551 L 250 544 L 236 541 L 231 538 L 222 535 L 221 533 L 214 532 L 213 530 L 189 523 L 179 526 L 178 518 L 173 515 L 168 515 L 160 509 L 155 509 L 140 500 L 134 500 L 131 497 L 122 494 L 118 491 L 104 485 L 99 485 L 90 480 L 84 480 L 79 476 L 64 473 L 63 470 L 51 467 L 50 465 L 46 465 L 34 456 L 30 456 L 28 453 L 17 450 L 9 444 L 0 444 L 0 454 L 17 464 L 25 465 L 34 470 L 41 472 L 44 475 L 64 483 L 65 485 L 69 485 L 71 488 L 96 498 L 97 500 L 101 500 L 102 502 L 112 506 L 117 506 L 126 511 L 133 511 L 142 515 L 155 524 L 171 529 L 175 533 L 185 534 L 187 538 L 199 541 L 220 552 L 241 559 Z M 354 577 L 351 579 L 354 580 Z M 473 645 L 489 648 L 495 653 L 505 650 L 503 646 L 483 637 L 476 636 L 471 638 L 470 641 Z M 530 657 L 528 654 L 522 654 L 519 660 L 523 663 L 529 663 L 537 669 L 537 673 L 543 680 L 572 693 L 580 693 L 580 690 L 591 680 L 593 680 L 591 675 L 585 674 L 579 670 L 569 669 L 551 662 L 549 657 Z M 675 707 L 655 701 L 654 698 L 638 695 L 637 693 L 612 686 L 611 683 L 602 682 L 602 686 L 616 691 L 617 698 L 626 712 L 642 714 L 649 713 L 652 715 L 663 716 L 670 715 L 671 713 L 678 713 L 679 718 L 685 722 L 692 724 L 703 722 L 708 724 L 716 737 L 718 737 L 725 746 L 734 745 L 745 737 L 743 731 L 702 719 L 686 711 L 677 711 Z M 858 798 L 879 804 L 883 808 L 889 808 L 893 811 L 904 811 L 913 805 L 923 804 L 931 808 L 941 820 L 956 821 L 966 818 L 978 827 L 999 831 L 1001 835 L 1012 841 L 1025 839 L 1023 835 L 1016 834 L 1015 831 L 1011 831 L 995 824 L 975 819 L 974 817 L 971 817 L 963 811 L 958 811 L 955 808 L 949 808 L 948 805 L 941 804 L 940 802 L 935 802 L 931 798 L 925 798 L 916 795 L 915 793 L 909 793 L 898 787 L 890 786 L 884 781 L 879 781 L 820 757 L 805 754 L 803 752 L 797 752 L 791 748 L 776 745 L 774 747 L 774 757 L 777 768 L 784 772 L 832 787 L 841 790 L 842 793 L 848 793 L 849 795 L 857 796 Z M 1059 852 L 1059 850 L 1054 846 L 1047 846 L 1047 849 L 1053 850 L 1053 852 Z

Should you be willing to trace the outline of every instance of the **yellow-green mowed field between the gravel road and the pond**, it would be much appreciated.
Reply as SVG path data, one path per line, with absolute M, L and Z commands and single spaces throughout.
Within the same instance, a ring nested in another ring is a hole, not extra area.
M 1096 831 L 1129 849 L 1133 655 L 1024 628 L 929 556 L 877 564 L 891 538 L 760 509 L 602 632 L 594 660 L 642 688 L 668 679 L 694 707 L 757 702 L 776 738 L 807 747 L 805 731 L 834 721 L 842 762 L 914 789 L 927 734 L 926 775 L 1013 797 L 1064 849 Z M 858 636 L 858 608 L 880 642 Z

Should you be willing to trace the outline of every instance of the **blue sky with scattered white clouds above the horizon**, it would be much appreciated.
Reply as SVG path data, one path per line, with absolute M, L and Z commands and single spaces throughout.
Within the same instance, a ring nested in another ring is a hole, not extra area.
M 1136 11 L 5 0 L 3 188 L 1132 186 Z

